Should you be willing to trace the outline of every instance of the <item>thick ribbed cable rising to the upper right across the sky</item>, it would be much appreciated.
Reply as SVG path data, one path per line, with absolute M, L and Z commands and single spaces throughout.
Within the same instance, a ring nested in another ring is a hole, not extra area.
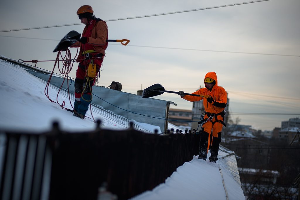
M 175 12 L 169 12 L 169 13 L 142 15 L 142 16 L 136 16 L 136 17 L 124 17 L 124 18 L 104 20 L 104 21 L 111 22 L 111 21 L 118 21 L 118 20 L 130 20 L 130 19 L 137 19 L 137 18 L 143 18 L 143 17 L 154 17 L 154 16 L 169 15 L 169 14 L 192 12 L 192 11 L 202 11 L 202 10 L 208 10 L 208 9 L 213 9 L 213 8 L 222 8 L 222 7 L 244 5 L 244 4 L 250 4 L 250 3 L 257 3 L 257 2 L 265 2 L 265 1 L 270 1 L 270 0 L 257 0 L 257 1 L 251 1 L 251 2 L 242 2 L 242 3 L 236 3 L 236 4 L 213 6 L 213 7 L 207 7 L 207 8 L 198 8 L 198 9 L 185 10 L 185 11 L 175 11 Z M 61 27 L 61 26 L 73 26 L 73 25 L 80 25 L 80 24 L 82 24 L 82 23 L 63 24 L 63 25 L 54 25 L 54 26 L 40 26 L 40 27 L 25 28 L 25 29 L 10 29 L 10 30 L 3 30 L 3 31 L 0 31 L 0 32 L 23 31 L 23 30 L 32 30 L 32 29 L 45 29 L 45 28 L 53 28 L 53 27 Z

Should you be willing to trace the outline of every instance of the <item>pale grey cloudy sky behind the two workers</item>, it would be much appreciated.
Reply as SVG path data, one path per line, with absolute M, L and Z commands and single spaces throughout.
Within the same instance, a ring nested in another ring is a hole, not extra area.
M 130 40 L 127 46 L 108 46 L 100 86 L 119 81 L 122 91 L 136 94 L 160 83 L 166 90 L 191 93 L 203 86 L 207 72 L 215 71 L 219 85 L 228 92 L 232 118 L 239 117 L 240 124 L 272 130 L 283 120 L 300 117 L 299 0 L 114 20 L 242 2 L 249 1 L 1 1 L 0 31 L 80 23 L 76 11 L 89 4 L 96 17 L 107 21 L 110 39 Z M 0 54 L 16 60 L 54 60 L 56 53 L 52 51 L 61 38 L 71 30 L 82 33 L 83 28 L 0 32 Z M 76 49 L 71 53 L 74 57 Z M 51 71 L 53 65 L 37 64 Z M 75 78 L 76 68 L 74 64 L 70 77 Z M 177 106 L 172 108 L 192 108 L 192 103 L 176 94 L 156 98 L 175 102 Z

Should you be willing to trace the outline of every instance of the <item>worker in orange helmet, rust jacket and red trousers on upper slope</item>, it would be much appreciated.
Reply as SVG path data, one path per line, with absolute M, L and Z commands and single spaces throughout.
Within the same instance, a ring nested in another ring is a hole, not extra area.
M 82 37 L 71 47 L 79 47 L 79 62 L 75 79 L 74 116 L 84 119 L 92 100 L 92 86 L 101 68 L 108 42 L 106 22 L 96 18 L 91 6 L 83 5 L 77 15 L 85 24 Z

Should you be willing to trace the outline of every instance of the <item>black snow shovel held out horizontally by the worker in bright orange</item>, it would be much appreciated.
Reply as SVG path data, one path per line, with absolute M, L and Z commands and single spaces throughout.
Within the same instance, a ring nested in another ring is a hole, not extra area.
M 165 88 L 163 86 L 161 86 L 161 84 L 156 83 L 150 87 L 147 87 L 146 89 L 143 89 L 142 97 L 148 98 L 148 97 L 152 97 L 152 96 L 157 96 L 157 95 L 164 94 L 164 92 L 179 94 L 179 92 L 165 90 Z M 183 94 L 190 95 L 190 96 L 201 96 L 201 97 L 205 97 L 205 98 L 209 97 L 209 95 L 196 95 L 196 94 L 189 94 L 189 93 L 183 93 Z

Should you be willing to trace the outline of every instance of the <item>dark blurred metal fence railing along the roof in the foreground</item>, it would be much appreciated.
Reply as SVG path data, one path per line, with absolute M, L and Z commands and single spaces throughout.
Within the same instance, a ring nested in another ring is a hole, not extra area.
M 197 134 L 134 129 L 0 134 L 1 199 L 97 199 L 98 188 L 128 199 L 164 183 L 198 154 Z

